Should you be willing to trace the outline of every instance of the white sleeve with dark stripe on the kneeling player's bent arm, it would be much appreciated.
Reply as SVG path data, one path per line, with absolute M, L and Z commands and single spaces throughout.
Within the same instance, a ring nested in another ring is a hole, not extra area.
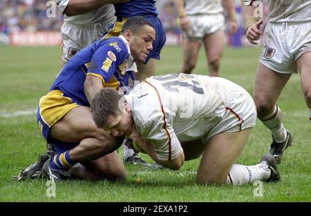
M 169 118 L 159 111 L 159 115 L 147 124 L 139 126 L 142 138 L 153 146 L 158 159 L 169 161 L 183 153 Z M 136 127 L 138 127 L 136 125 Z

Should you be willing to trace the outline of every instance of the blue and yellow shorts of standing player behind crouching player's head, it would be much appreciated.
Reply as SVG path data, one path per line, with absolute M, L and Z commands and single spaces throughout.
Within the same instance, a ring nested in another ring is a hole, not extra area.
M 158 17 L 144 16 L 144 18 L 147 19 L 156 30 L 156 40 L 152 44 L 153 50 L 151 50 L 147 59 L 144 61 L 144 63 L 147 63 L 150 58 L 160 60 L 160 52 L 165 44 L 165 41 L 167 41 L 167 35 L 165 34 L 164 27 Z M 105 39 L 107 37 L 119 36 L 127 19 L 128 17 L 118 17 L 117 21 L 102 38 Z

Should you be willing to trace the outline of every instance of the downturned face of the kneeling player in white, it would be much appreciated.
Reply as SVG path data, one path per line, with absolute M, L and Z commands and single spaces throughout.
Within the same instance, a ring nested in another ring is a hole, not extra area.
M 117 116 L 108 117 L 107 125 L 104 129 L 113 135 L 113 137 L 128 137 L 133 128 L 133 119 L 131 111 L 124 110 L 118 112 Z

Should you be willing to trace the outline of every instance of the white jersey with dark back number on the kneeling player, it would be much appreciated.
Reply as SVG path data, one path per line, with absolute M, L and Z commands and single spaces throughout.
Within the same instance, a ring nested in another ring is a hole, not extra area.
M 162 75 L 142 81 L 125 97 L 136 128 L 158 159 L 167 161 L 182 153 L 180 141 L 200 139 L 222 120 L 228 84 L 233 83 L 220 77 Z

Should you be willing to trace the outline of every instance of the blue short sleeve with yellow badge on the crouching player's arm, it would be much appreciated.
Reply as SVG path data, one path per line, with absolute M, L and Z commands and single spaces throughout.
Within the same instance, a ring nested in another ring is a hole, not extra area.
M 129 56 L 129 52 L 121 48 L 121 45 L 116 50 L 111 44 L 117 44 L 117 42 L 110 43 L 110 45 L 106 43 L 96 50 L 87 72 L 87 75 L 100 77 L 103 85 L 113 77 L 117 67 Z

